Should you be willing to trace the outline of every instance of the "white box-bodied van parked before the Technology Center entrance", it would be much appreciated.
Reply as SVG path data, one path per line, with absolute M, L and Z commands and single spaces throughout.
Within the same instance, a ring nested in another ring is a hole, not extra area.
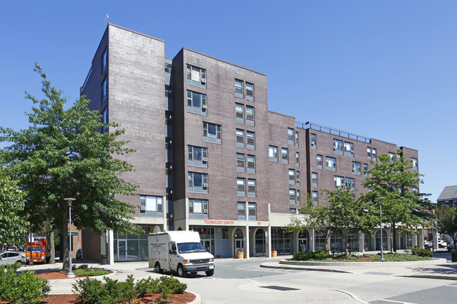
M 155 272 L 176 271 L 179 277 L 188 272 L 214 274 L 214 256 L 207 252 L 195 231 L 169 231 L 149 234 L 149 267 Z

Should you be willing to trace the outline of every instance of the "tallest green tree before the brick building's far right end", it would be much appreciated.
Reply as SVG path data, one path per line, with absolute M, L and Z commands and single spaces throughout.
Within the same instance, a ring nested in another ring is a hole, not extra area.
M 392 157 L 380 154 L 379 161 L 372 161 L 374 167 L 362 181 L 369 191 L 361 199 L 378 208 L 382 201 L 382 223 L 391 228 L 392 251 L 397 251 L 397 232 L 414 233 L 412 227 L 427 225 L 427 220 L 417 212 L 425 194 L 413 192 L 413 187 L 418 187 L 422 180 L 417 171 L 411 170 L 411 160 L 401 154 L 401 150 Z

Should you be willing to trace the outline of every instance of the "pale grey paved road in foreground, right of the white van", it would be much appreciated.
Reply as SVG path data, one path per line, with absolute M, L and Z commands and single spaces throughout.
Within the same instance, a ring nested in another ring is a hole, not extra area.
M 456 303 L 457 283 L 390 275 L 261 268 L 265 260 L 216 260 L 214 276 L 183 282 L 203 304 L 222 303 Z

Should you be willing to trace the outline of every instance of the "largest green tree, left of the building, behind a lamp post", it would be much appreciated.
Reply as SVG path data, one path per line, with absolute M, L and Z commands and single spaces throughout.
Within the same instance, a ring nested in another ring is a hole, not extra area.
M 89 110 L 89 100 L 78 98 L 65 110 L 67 98 L 51 86 L 41 67 L 35 72 L 42 77 L 45 98 L 26 92 L 34 107 L 28 114 L 31 126 L 20 131 L 0 128 L 0 140 L 12 143 L 4 148 L 6 169 L 19 181 L 25 193 L 24 214 L 34 227 L 50 225 L 62 234 L 63 270 L 69 270 L 68 216 L 64 200 L 74 197 L 72 223 L 102 234 L 105 230 L 138 233 L 131 223 L 134 205 L 118 199 L 118 195 L 135 194 L 136 185 L 120 178 L 133 171 L 131 164 L 113 157 L 134 150 L 117 138 L 124 133 L 118 124 L 104 124 L 98 111 Z M 103 132 L 109 128 L 109 132 Z

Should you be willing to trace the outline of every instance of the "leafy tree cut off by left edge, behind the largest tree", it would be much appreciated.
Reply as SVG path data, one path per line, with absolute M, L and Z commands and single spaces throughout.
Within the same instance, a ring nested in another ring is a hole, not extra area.
M 19 215 L 24 209 L 23 192 L 3 171 L 0 167 L 0 249 L 4 244 L 20 242 L 29 225 Z

